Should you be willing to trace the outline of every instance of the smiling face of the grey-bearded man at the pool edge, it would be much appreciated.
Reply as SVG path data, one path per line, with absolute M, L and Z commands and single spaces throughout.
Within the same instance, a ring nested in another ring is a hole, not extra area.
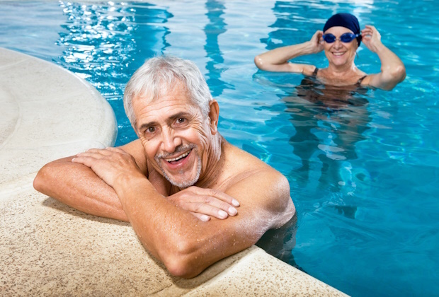
M 149 163 L 177 187 L 194 185 L 210 151 L 209 117 L 179 85 L 149 103 L 135 98 L 133 109 Z

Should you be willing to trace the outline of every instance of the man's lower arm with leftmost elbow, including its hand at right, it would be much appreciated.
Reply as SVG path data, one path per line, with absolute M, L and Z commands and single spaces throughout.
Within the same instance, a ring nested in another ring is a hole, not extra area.
M 140 141 L 132 141 L 120 148 L 135 159 L 139 170 L 147 176 L 147 161 Z M 62 158 L 43 166 L 33 182 L 35 190 L 86 214 L 128 221 L 113 187 L 107 185 L 88 166 L 72 162 L 73 158 L 76 156 Z M 211 217 L 227 219 L 228 216 L 236 215 L 235 207 L 239 206 L 236 199 L 233 200 L 224 193 L 214 194 L 204 189 L 188 189 L 166 199 L 190 211 L 202 221 L 209 221 Z

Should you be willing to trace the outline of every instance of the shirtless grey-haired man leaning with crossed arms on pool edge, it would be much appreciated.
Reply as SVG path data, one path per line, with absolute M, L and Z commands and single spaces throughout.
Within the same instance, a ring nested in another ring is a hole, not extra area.
M 144 247 L 186 278 L 295 214 L 287 179 L 220 135 L 218 103 L 193 62 L 149 59 L 127 83 L 124 104 L 139 139 L 49 163 L 35 189 L 129 221 Z

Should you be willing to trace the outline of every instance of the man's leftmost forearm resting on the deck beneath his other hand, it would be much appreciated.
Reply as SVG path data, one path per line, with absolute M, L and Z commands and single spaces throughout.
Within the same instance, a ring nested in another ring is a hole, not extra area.
M 35 190 L 87 214 L 128 221 L 118 195 L 85 165 L 72 157 L 48 163 L 35 177 Z

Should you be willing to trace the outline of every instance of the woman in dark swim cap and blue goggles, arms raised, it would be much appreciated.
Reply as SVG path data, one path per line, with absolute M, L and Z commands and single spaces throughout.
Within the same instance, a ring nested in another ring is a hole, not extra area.
M 380 73 L 365 74 L 355 66 L 355 54 L 361 41 L 380 57 Z M 290 59 L 317 54 L 322 50 L 329 62 L 327 68 L 318 69 L 314 65 L 288 62 Z M 323 31 L 318 30 L 308 42 L 259 54 L 254 62 L 262 70 L 301 73 L 331 86 L 364 86 L 389 91 L 406 77 L 406 69 L 401 59 L 382 44 L 377 29 L 372 25 L 366 25 L 360 31 L 358 19 L 350 13 L 331 16 L 326 21 Z

